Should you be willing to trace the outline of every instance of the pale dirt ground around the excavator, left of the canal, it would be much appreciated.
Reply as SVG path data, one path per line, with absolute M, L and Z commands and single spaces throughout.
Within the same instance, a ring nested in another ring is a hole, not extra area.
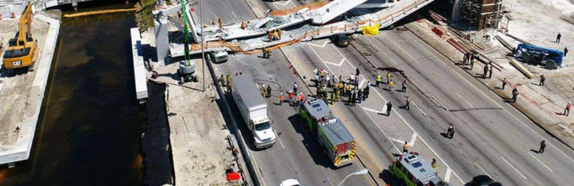
M 14 38 L 18 31 L 19 19 L 4 18 L 0 21 L 0 38 L 2 38 L 2 56 L 8 46 L 10 38 Z M 34 18 L 32 22 L 32 37 L 38 40 L 38 52 L 42 50 L 49 24 Z M 3 59 L 0 60 L 3 61 Z M 37 66 L 36 64 L 35 66 Z M 36 72 L 17 74 L 6 77 L 0 74 L 0 151 L 10 149 L 17 139 L 19 130 L 16 130 L 22 122 L 25 112 L 33 112 L 34 109 L 26 108 L 30 87 L 34 81 Z M 28 109 L 28 110 L 26 110 Z M 28 113 L 29 114 L 29 113 Z

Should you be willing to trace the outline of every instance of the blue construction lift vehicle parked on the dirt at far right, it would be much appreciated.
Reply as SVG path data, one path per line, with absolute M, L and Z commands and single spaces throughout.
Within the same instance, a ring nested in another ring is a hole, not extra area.
M 514 50 L 514 57 L 521 59 L 522 62 L 529 64 L 542 64 L 547 69 L 556 69 L 557 67 L 562 66 L 564 52 L 561 50 L 520 43 Z

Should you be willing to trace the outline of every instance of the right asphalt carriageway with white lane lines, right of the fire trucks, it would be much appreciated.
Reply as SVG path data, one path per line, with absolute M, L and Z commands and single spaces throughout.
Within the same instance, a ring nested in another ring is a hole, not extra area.
M 481 174 L 504 185 L 569 185 L 573 181 L 569 176 L 574 172 L 572 149 L 544 133 L 412 33 L 389 30 L 377 37 L 360 35 L 353 42 L 356 49 L 339 49 L 325 39 L 292 49 L 309 71 L 323 68 L 348 77 L 359 68 L 362 79 L 371 82 L 377 73 L 384 77 L 392 72 L 392 91 L 382 84 L 360 106 L 336 105 L 348 118 L 357 118 L 358 124 L 378 126 L 387 141 L 398 148 L 377 151 L 387 146 L 363 143 L 377 159 L 396 153 L 403 141 L 409 141 L 413 151 L 426 159 L 437 159 L 440 176 L 454 185 Z M 410 80 L 407 93 L 400 92 L 404 74 Z M 413 100 L 410 110 L 398 108 L 404 105 L 405 96 Z M 379 114 L 386 101 L 394 104 L 389 117 Z M 457 132 L 448 139 L 441 133 L 451 122 Z M 552 144 L 544 154 L 536 153 L 541 138 Z

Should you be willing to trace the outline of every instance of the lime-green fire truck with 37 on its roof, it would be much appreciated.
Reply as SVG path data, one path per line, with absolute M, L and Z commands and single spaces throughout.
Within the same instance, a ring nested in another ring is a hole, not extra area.
M 355 137 L 343 122 L 331 113 L 323 100 L 310 98 L 301 105 L 299 114 L 307 121 L 307 130 L 323 147 L 323 152 L 335 167 L 355 161 Z

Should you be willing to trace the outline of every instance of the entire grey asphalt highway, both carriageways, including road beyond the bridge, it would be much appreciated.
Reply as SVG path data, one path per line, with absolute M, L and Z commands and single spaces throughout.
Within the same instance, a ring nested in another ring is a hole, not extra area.
M 223 17 L 226 22 L 227 18 L 231 22 L 255 18 L 243 1 L 229 2 L 239 4 L 219 6 L 219 1 L 204 1 L 204 7 L 209 7 L 205 14 Z M 298 1 L 252 2 L 262 3 L 269 9 L 301 5 Z M 359 35 L 352 44 L 355 47 L 340 49 L 321 39 L 282 50 L 292 51 L 295 57 L 289 60 L 304 65 L 305 72 L 300 74 L 312 74 L 314 69 L 323 68 L 346 77 L 359 68 L 360 78 L 364 80 L 362 86 L 366 81 L 374 82 L 377 73 L 383 74 L 383 81 L 386 72 L 393 74 L 393 90 L 386 90 L 386 84 L 382 84 L 372 89 L 362 104 L 348 106 L 339 102 L 332 106 L 358 138 L 362 148 L 358 155 L 370 162 L 367 168 L 376 179 L 394 183 L 384 169 L 398 155 L 402 143 L 408 141 L 411 150 L 420 152 L 428 161 L 437 159 L 440 177 L 452 185 L 464 185 L 482 174 L 504 185 L 569 185 L 574 181 L 572 149 L 546 134 L 412 33 L 388 30 L 377 37 Z M 323 153 L 317 144 L 309 141 L 297 125 L 301 122 L 297 109 L 286 104 L 275 105 L 278 91 L 285 92 L 293 82 L 297 82 L 300 90 L 302 85 L 309 84 L 290 73 L 287 64 L 281 51 L 275 50 L 270 60 L 238 55 L 226 63 L 216 64 L 215 68 L 223 74 L 249 73 L 256 82 L 273 86 L 273 97 L 266 100 L 280 141 L 270 149 L 258 151 L 251 145 L 249 132 L 242 129 L 263 175 L 263 185 L 277 185 L 289 178 L 298 179 L 304 185 L 335 185 L 362 164 L 332 169 L 322 159 Z M 410 85 L 403 93 L 397 89 L 405 76 Z M 315 92 L 314 88 L 311 90 Z M 307 94 L 311 92 L 305 90 Z M 399 107 L 404 105 L 405 96 L 412 99 L 410 109 Z M 387 101 L 394 105 L 390 116 L 381 114 Z M 240 116 L 235 117 L 241 121 Z M 443 136 L 449 123 L 457 129 L 452 139 Z M 540 154 L 536 151 L 542 138 L 548 145 Z M 348 181 L 348 185 L 373 184 L 369 176 L 351 177 Z

